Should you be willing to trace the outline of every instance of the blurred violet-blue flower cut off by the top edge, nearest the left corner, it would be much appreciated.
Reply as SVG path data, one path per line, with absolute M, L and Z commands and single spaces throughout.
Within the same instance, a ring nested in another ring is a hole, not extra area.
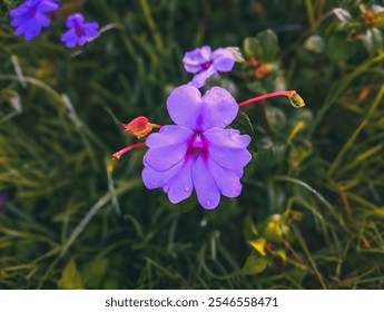
M 53 12 L 59 8 L 57 1 L 51 0 L 27 0 L 19 7 L 9 11 L 13 18 L 11 26 L 16 27 L 14 35 L 24 35 L 27 40 L 31 40 L 41 32 L 42 27 L 50 25 L 48 12 Z

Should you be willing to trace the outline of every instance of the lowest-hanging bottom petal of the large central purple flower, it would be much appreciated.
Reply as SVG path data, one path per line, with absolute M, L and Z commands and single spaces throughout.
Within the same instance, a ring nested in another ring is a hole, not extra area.
M 201 157 L 194 164 L 191 177 L 199 204 L 206 209 L 216 208 L 220 201 L 220 191 L 207 163 Z

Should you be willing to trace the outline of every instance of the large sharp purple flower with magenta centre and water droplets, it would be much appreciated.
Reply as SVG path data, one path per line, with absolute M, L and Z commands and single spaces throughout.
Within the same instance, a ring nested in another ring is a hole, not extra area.
M 146 140 L 141 175 L 147 188 L 163 187 L 174 204 L 195 188 L 207 209 L 218 205 L 220 194 L 237 197 L 243 168 L 250 160 L 250 137 L 225 129 L 237 115 L 236 100 L 219 87 L 201 97 L 196 87 L 180 86 L 168 97 L 167 108 L 176 125 L 161 127 Z

